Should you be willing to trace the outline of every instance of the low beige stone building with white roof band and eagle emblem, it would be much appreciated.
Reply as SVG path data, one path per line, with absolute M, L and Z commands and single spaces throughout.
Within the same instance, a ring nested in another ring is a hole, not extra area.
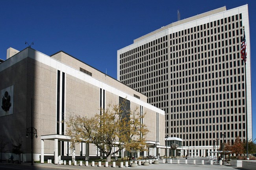
M 9 48 L 7 59 L 0 62 L 0 80 L 2 159 L 18 159 L 12 153 L 18 144 L 22 161 L 31 161 L 31 153 L 41 163 L 49 157 L 54 163 L 60 156 L 71 157 L 65 119 L 72 114 L 93 116 L 121 99 L 130 102 L 131 110 L 138 107 L 146 113 L 141 123 L 149 130 L 148 151 L 137 156 L 165 155 L 165 112 L 148 104 L 147 96 L 63 51 L 47 56 L 30 47 Z M 75 153 L 100 156 L 96 146 L 87 143 L 77 144 Z

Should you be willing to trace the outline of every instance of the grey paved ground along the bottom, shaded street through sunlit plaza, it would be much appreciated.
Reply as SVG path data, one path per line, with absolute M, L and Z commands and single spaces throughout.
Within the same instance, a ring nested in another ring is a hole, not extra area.
M 193 160 L 196 160 L 196 164 L 193 165 Z M 204 160 L 204 165 L 202 164 Z M 102 163 L 103 165 L 104 163 Z M 97 166 L 73 166 L 73 165 L 54 165 L 54 164 L 34 164 L 31 166 L 30 163 L 22 163 L 22 165 L 6 164 L 0 163 L 0 170 L 114 170 L 120 168 L 111 168 L 111 167 L 97 167 Z M 173 160 L 173 163 L 162 163 L 160 160 L 159 165 L 150 164 L 149 166 L 137 166 L 137 168 L 122 168 L 122 169 L 132 169 L 132 170 L 244 170 L 243 168 L 236 168 L 232 166 L 224 165 L 210 165 L 210 161 L 206 158 L 188 158 L 187 164 L 185 164 L 185 159 L 180 159 L 180 164 L 177 164 L 177 161 Z

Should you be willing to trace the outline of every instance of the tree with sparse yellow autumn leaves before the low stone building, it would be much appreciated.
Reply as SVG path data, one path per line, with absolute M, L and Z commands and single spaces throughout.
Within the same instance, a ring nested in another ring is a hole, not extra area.
M 127 110 L 126 104 L 125 100 L 121 104 L 109 104 L 93 117 L 70 116 L 66 124 L 67 135 L 72 138 L 71 147 L 81 141 L 93 143 L 106 155 L 107 161 L 124 148 L 144 151 L 148 129 L 141 119 L 145 114 L 137 112 L 137 108 Z M 113 147 L 119 149 L 113 150 Z

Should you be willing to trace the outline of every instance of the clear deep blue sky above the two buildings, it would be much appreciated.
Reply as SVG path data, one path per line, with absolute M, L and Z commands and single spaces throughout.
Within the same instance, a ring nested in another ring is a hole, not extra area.
M 9 47 L 52 55 L 60 50 L 117 78 L 117 50 L 147 33 L 219 7 L 249 5 L 251 56 L 256 49 L 255 0 L 0 0 L 0 58 Z M 252 57 L 252 66 L 256 62 Z M 252 67 L 252 87 L 256 84 Z M 256 90 L 252 124 L 256 128 Z M 253 139 L 256 130 L 253 131 Z

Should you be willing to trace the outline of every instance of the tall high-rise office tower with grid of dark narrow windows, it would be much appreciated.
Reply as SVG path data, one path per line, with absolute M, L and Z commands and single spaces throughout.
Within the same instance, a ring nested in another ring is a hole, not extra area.
M 247 100 L 240 54 L 243 26 Z M 180 20 L 118 50 L 117 77 L 165 110 L 166 135 L 182 138 L 183 146 L 195 146 L 191 152 L 204 156 L 223 139 L 246 139 L 246 111 L 252 138 L 249 35 L 248 5 Z

